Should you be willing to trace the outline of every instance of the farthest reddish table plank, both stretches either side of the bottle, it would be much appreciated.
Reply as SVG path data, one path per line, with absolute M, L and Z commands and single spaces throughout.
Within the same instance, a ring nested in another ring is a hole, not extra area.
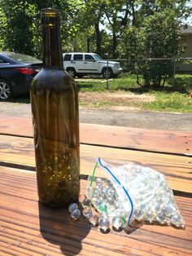
M 0 115 L 0 134 L 33 136 L 32 119 Z M 154 152 L 192 154 L 192 133 L 80 124 L 81 143 Z

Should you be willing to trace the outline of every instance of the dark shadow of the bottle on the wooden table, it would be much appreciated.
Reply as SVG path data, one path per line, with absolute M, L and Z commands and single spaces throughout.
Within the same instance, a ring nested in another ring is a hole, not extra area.
M 52 245 L 59 245 L 64 255 L 81 252 L 81 241 L 88 235 L 90 227 L 85 218 L 73 221 L 68 210 L 52 209 L 41 203 L 39 207 L 41 236 Z M 54 246 L 49 247 L 54 254 Z

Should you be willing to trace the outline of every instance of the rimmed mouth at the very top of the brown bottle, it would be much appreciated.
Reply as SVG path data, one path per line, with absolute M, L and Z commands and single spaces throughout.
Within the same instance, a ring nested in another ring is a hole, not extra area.
M 41 9 L 41 24 L 56 25 L 60 24 L 60 12 L 58 9 Z

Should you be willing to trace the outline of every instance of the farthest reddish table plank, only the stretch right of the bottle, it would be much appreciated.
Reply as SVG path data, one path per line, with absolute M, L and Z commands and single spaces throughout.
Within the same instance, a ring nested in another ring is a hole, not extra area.
M 153 152 L 192 154 L 192 133 L 81 124 L 81 142 Z

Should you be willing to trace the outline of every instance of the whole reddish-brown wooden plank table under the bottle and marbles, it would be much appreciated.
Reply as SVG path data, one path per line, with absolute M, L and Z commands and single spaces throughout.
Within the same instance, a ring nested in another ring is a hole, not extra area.
M 75 222 L 67 209 L 38 203 L 31 118 L 0 120 L 1 256 L 192 255 L 192 133 L 81 123 L 81 193 L 94 157 L 150 166 L 166 175 L 186 226 L 135 224 L 103 234 L 86 218 Z

